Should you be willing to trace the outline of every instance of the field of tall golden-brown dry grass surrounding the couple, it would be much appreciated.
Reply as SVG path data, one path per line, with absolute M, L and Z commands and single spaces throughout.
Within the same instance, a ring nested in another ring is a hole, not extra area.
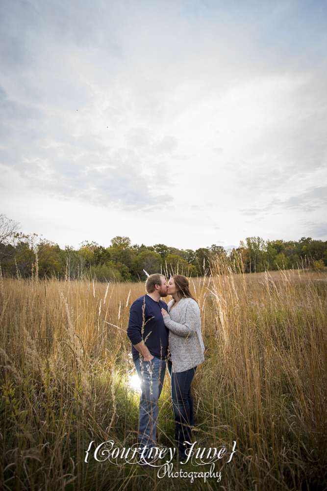
M 94 458 L 101 442 L 137 441 L 126 328 L 143 283 L 1 277 L 1 490 L 327 489 L 326 270 L 236 274 L 216 264 L 191 287 L 206 348 L 193 382 L 196 447 L 226 447 L 220 482 L 191 482 L 210 465 L 189 462 L 175 477 L 175 462 L 160 477 Z M 169 382 L 167 373 L 158 438 L 174 447 Z

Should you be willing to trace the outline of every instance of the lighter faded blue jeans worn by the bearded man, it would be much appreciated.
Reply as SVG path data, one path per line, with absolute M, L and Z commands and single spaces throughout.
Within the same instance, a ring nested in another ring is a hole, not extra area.
M 153 357 L 150 361 L 143 361 L 140 356 L 134 365 L 141 384 L 141 398 L 139 405 L 139 443 L 141 448 L 149 448 L 156 444 L 156 430 L 158 419 L 158 400 L 166 372 L 166 360 Z

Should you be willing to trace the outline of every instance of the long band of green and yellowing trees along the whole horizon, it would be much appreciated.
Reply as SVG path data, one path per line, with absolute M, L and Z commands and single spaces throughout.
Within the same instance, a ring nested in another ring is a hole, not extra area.
M 138 281 L 148 274 L 165 272 L 188 276 L 210 274 L 217 256 L 224 256 L 233 264 L 242 257 L 246 273 L 290 268 L 319 270 L 327 266 L 327 241 L 302 237 L 298 241 L 264 241 L 248 237 L 236 249 L 222 246 L 199 249 L 177 249 L 164 244 L 145 246 L 131 244 L 128 237 L 117 236 L 105 247 L 84 241 L 78 249 L 57 244 L 17 231 L 18 223 L 0 215 L 1 274 L 17 278 L 37 276 L 78 280 L 84 277 L 98 281 Z

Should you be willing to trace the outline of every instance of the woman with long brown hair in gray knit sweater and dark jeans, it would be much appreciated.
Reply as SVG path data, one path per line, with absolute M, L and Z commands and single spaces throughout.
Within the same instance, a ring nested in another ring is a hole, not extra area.
M 168 312 L 162 309 L 165 326 L 169 329 L 169 349 L 172 362 L 168 363 L 171 376 L 172 401 L 176 421 L 175 440 L 179 460 L 185 458 L 187 446 L 192 441 L 194 427 L 191 382 L 196 368 L 204 361 L 201 335 L 200 308 L 192 297 L 185 276 L 176 274 L 168 282 L 168 295 L 173 297 Z

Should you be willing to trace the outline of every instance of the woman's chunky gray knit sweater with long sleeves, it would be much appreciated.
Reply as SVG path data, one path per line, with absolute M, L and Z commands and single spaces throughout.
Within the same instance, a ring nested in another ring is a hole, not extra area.
M 171 310 L 174 303 L 168 303 L 169 315 L 164 316 L 164 323 L 169 329 L 173 371 L 185 372 L 204 361 L 200 308 L 193 299 L 181 299 Z

